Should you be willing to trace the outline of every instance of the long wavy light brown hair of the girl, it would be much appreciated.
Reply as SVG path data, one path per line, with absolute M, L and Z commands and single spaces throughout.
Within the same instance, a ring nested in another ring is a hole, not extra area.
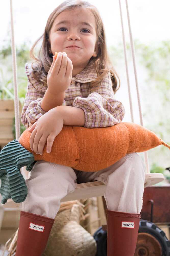
M 55 20 L 55 18 L 64 10 L 70 10 L 76 7 L 85 7 L 91 10 L 93 13 L 95 20 L 96 20 L 96 35 L 97 35 L 97 43 L 98 43 L 98 53 L 96 57 L 91 57 L 90 61 L 94 62 L 94 69 L 97 72 L 97 78 L 94 81 L 91 81 L 90 86 L 96 86 L 97 84 L 100 84 L 101 81 L 104 79 L 106 75 L 108 75 L 108 72 L 111 73 L 111 80 L 112 80 L 112 88 L 114 91 L 114 94 L 120 87 L 120 79 L 116 73 L 116 71 L 113 68 L 113 65 L 111 63 L 111 60 L 108 55 L 107 47 L 106 47 L 106 37 L 105 37 L 105 30 L 104 25 L 101 19 L 101 16 L 97 10 L 97 8 L 90 4 L 87 1 L 81 1 L 81 0 L 66 0 L 62 2 L 56 9 L 53 10 L 53 12 L 50 14 L 47 24 L 45 27 L 45 31 L 43 35 L 33 44 L 33 46 L 30 49 L 30 57 L 33 58 L 35 61 L 32 62 L 32 69 L 33 69 L 33 77 L 35 79 L 38 79 L 39 81 L 42 81 L 44 85 L 47 85 L 47 74 L 51 67 L 51 64 L 53 62 L 53 53 L 49 52 L 50 48 L 50 42 L 49 42 L 49 34 L 51 31 L 52 24 Z M 34 56 L 33 50 L 35 46 L 37 45 L 38 41 L 43 38 L 43 42 L 41 45 L 41 48 L 38 52 L 38 58 Z M 90 62 L 89 61 L 89 62 Z M 33 67 L 33 63 L 37 62 L 38 65 Z M 117 87 L 117 78 L 119 80 L 119 87 Z

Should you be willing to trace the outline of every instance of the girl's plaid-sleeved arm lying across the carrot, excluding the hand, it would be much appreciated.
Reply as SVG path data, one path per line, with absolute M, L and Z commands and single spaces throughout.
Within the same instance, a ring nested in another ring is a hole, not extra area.
M 110 75 L 104 79 L 99 89 L 92 89 L 87 98 L 76 97 L 72 106 L 58 106 L 64 125 L 87 128 L 107 127 L 123 120 L 123 104 L 114 99 Z

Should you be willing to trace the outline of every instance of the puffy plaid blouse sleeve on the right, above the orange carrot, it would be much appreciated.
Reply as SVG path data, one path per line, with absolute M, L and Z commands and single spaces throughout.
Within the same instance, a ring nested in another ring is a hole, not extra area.
M 114 98 L 111 74 L 109 72 L 100 87 L 92 87 L 87 98 L 76 97 L 74 107 L 84 110 L 86 128 L 113 126 L 120 123 L 125 115 L 123 104 Z

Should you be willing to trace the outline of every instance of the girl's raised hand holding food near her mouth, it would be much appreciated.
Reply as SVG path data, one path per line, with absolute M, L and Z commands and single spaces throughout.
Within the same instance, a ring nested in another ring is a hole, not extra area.
M 56 59 L 53 55 L 53 63 L 47 75 L 48 90 L 53 94 L 65 92 L 71 83 L 72 71 L 73 63 L 67 54 L 59 52 Z

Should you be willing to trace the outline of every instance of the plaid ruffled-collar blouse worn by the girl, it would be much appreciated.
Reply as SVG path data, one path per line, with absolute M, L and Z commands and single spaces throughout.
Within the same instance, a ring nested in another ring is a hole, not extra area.
M 89 87 L 91 81 L 97 78 L 93 63 L 88 65 L 76 76 L 72 77 L 66 90 L 62 105 L 83 109 L 87 128 L 107 127 L 120 123 L 125 115 L 123 104 L 114 99 L 111 73 L 101 82 L 100 88 Z M 25 64 L 28 77 L 27 93 L 21 113 L 21 121 L 26 128 L 34 124 L 46 112 L 41 108 L 47 86 L 36 81 L 31 74 L 31 64 Z M 99 85 L 97 85 L 99 86 Z M 91 89 L 91 90 L 90 90 Z

